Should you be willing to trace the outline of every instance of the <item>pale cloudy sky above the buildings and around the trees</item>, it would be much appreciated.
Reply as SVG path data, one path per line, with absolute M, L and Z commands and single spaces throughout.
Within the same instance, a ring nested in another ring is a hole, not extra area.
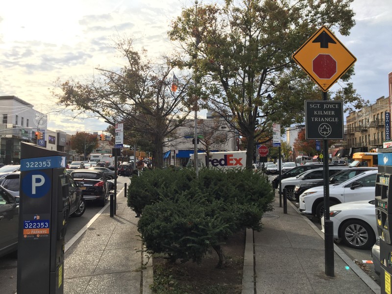
M 194 5 L 193 0 L 1 1 L 0 96 L 17 96 L 49 113 L 50 130 L 104 130 L 108 124 L 100 120 L 53 112 L 59 109 L 51 94 L 55 80 L 83 82 L 97 74 L 95 68 L 122 67 L 113 49 L 119 37 L 134 39 L 152 57 L 170 53 L 170 24 L 183 7 Z M 392 0 L 354 0 L 352 7 L 356 25 L 349 36 L 336 36 L 357 58 L 354 88 L 374 102 L 389 95 Z

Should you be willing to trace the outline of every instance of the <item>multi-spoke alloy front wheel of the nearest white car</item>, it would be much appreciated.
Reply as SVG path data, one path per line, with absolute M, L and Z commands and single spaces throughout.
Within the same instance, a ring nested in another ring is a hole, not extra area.
M 373 229 L 365 221 L 346 221 L 340 233 L 343 243 L 351 248 L 370 249 L 376 242 Z

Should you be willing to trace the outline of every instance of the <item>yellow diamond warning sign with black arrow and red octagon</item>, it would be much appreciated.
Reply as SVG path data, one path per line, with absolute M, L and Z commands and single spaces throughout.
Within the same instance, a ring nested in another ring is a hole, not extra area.
M 357 61 L 324 25 L 293 54 L 293 59 L 324 92 Z

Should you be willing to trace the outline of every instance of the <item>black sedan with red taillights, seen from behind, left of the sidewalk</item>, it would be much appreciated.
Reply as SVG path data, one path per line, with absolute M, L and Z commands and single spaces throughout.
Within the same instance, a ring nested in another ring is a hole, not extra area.
M 93 170 L 73 170 L 70 175 L 76 184 L 82 183 L 82 196 L 85 200 L 98 200 L 105 206 L 109 198 L 109 182 L 103 172 Z

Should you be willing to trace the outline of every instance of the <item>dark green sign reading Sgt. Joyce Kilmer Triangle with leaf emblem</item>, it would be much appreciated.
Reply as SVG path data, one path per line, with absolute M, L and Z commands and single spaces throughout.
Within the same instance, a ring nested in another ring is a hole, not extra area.
M 343 140 L 343 101 L 305 100 L 305 136 Z

